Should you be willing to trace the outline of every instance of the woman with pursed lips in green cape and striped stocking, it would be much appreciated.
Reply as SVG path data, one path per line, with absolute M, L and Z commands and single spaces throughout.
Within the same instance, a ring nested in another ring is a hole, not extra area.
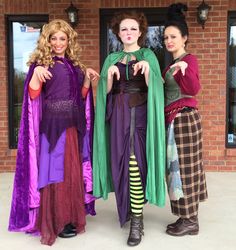
M 145 16 L 120 13 L 112 30 L 123 51 L 106 58 L 98 84 L 93 194 L 106 199 L 114 186 L 120 225 L 131 217 L 127 244 L 135 246 L 143 235 L 145 201 L 165 203 L 163 81 L 154 53 L 141 48 Z

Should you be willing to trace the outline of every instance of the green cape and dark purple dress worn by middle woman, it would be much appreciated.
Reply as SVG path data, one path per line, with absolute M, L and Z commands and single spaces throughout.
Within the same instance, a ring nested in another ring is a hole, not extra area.
M 136 60 L 121 63 L 124 57 Z M 133 64 L 149 63 L 148 87 L 144 76 L 133 75 Z M 107 95 L 107 72 L 120 71 Z M 132 156 L 133 155 L 133 156 Z M 94 144 L 93 194 L 108 198 L 115 191 L 120 225 L 130 219 L 130 157 L 136 157 L 145 200 L 165 204 L 165 125 L 163 80 L 154 53 L 147 48 L 110 54 L 103 65 L 97 90 Z

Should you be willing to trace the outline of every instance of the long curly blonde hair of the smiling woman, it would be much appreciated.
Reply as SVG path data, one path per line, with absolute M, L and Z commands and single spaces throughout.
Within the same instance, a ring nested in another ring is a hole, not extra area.
M 73 65 L 79 65 L 81 68 L 85 66 L 80 62 L 81 47 L 78 42 L 78 33 L 62 19 L 54 19 L 42 28 L 42 32 L 37 41 L 37 46 L 30 55 L 27 65 L 36 63 L 38 65 L 53 66 L 53 54 L 50 44 L 50 38 L 58 31 L 64 32 L 68 37 L 68 47 L 65 51 L 65 57 L 70 59 Z

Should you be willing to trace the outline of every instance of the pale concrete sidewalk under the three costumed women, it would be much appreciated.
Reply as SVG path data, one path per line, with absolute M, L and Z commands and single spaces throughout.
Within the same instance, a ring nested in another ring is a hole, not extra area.
M 200 233 L 197 236 L 172 237 L 165 233 L 173 222 L 167 200 L 164 208 L 146 205 L 145 236 L 138 250 L 235 250 L 236 249 L 236 173 L 208 172 L 209 199 L 200 204 Z M 97 215 L 87 217 L 86 232 L 71 239 L 57 238 L 51 247 L 41 245 L 39 237 L 8 232 L 13 173 L 0 174 L 0 249 L 1 250 L 120 250 L 126 245 L 129 224 L 120 228 L 114 195 L 96 202 Z

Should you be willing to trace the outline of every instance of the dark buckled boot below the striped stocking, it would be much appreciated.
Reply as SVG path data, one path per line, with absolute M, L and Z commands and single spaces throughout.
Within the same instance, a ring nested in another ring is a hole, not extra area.
M 130 232 L 127 244 L 129 246 L 137 246 L 142 240 L 142 235 L 144 235 L 143 215 L 135 216 L 132 214 L 130 222 Z

